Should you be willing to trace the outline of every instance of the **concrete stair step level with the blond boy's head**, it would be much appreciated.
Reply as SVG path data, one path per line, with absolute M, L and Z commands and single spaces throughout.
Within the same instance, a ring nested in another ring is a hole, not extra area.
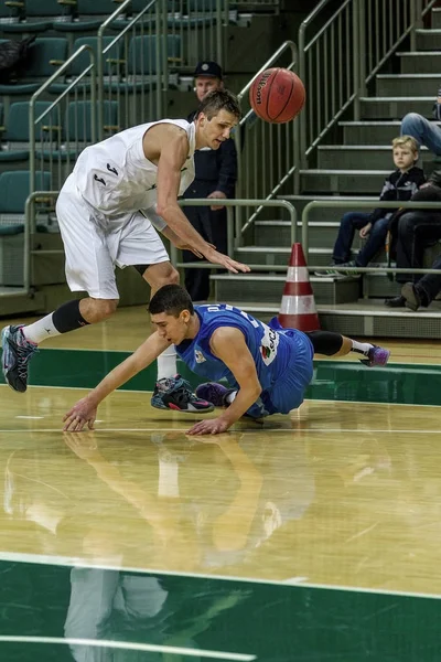
M 426 147 L 420 150 L 419 162 L 433 161 L 433 153 Z M 344 169 L 375 168 L 395 169 L 391 147 L 389 145 L 322 145 L 319 146 L 319 168 L 326 169 L 338 164 Z

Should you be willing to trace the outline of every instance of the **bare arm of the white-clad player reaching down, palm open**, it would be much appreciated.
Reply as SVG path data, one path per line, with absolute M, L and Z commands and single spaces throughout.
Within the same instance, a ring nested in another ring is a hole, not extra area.
M 237 274 L 247 273 L 250 268 L 223 253 L 218 253 L 200 235 L 189 222 L 178 204 L 181 169 L 184 167 L 189 154 L 189 140 L 186 135 L 175 127 L 163 125 L 161 134 L 157 132 L 159 146 L 158 160 L 158 200 L 157 212 L 168 226 L 182 239 L 190 250 L 197 252 L 208 261 L 220 265 Z

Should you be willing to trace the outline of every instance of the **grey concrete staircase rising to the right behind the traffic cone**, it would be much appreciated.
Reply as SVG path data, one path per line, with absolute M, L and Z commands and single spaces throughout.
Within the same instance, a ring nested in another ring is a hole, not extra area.
M 431 10 L 431 29 L 416 30 L 416 51 L 402 46 L 388 64 L 395 74 L 377 73 L 369 86 L 373 96 L 359 99 L 361 118 L 343 117 L 334 135 L 341 143 L 319 145 L 316 168 L 300 171 L 300 194 L 286 193 L 301 218 L 312 200 L 347 201 L 363 196 L 377 206 L 384 179 L 394 170 L 390 141 L 399 135 L 400 120 L 409 111 L 431 119 L 433 100 L 441 82 L 441 52 L 434 51 L 441 39 L 441 9 Z M 404 42 L 405 45 L 408 42 Z M 349 113 L 351 113 L 349 108 Z M 433 154 L 421 149 L 419 164 L 427 173 L 437 166 Z M 356 210 L 357 205 L 354 202 Z M 348 207 L 314 209 L 310 216 L 309 265 L 329 264 L 340 220 Z M 298 224 L 301 236 L 301 223 Z M 357 239 L 354 250 L 357 250 Z M 236 258 L 248 264 L 268 265 L 268 271 L 245 276 L 214 275 L 216 300 L 235 301 L 260 317 L 279 311 L 284 273 L 272 271 L 273 265 L 287 265 L 290 255 L 290 222 L 261 220 L 255 223 L 254 244 L 236 249 Z M 377 257 L 380 266 L 386 256 Z M 427 266 L 432 256 L 428 255 Z M 310 273 L 323 329 L 358 335 L 400 338 L 440 338 L 441 305 L 412 313 L 384 306 L 386 297 L 399 293 L 399 285 L 385 273 L 365 274 L 363 278 L 323 278 Z M 239 293 L 238 293 L 239 292 Z

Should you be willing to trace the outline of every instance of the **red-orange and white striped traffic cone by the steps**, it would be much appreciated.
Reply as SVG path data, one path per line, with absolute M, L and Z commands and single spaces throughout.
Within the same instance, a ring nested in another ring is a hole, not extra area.
M 286 329 L 299 329 L 299 331 L 320 329 L 314 293 L 301 244 L 292 244 L 279 322 Z

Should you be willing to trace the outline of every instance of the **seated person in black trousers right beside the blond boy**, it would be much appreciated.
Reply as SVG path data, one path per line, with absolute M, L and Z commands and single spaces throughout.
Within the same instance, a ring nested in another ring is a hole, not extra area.
M 433 171 L 426 184 L 422 184 L 412 201 L 441 203 L 441 171 Z M 441 211 L 432 210 L 399 210 L 390 223 L 390 256 L 395 256 L 398 268 L 423 268 L 424 249 L 441 238 Z M 397 282 L 405 284 L 412 279 L 418 282 L 421 274 L 397 274 Z M 427 281 L 426 281 L 427 282 Z M 386 299 L 385 305 L 400 308 L 406 305 L 401 293 L 392 299 Z

